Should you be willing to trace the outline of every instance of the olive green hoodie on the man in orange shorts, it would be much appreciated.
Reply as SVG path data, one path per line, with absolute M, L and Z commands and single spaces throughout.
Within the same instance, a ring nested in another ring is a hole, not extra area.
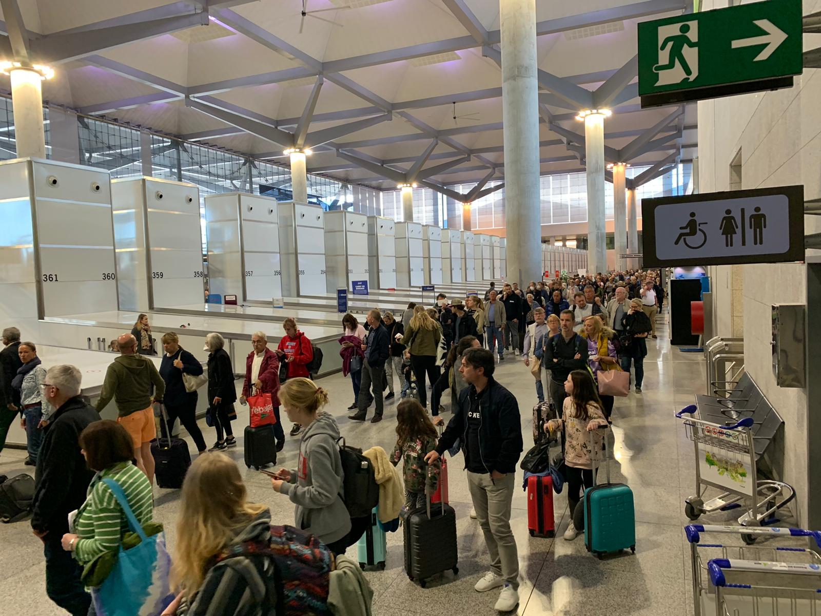
M 165 381 L 153 361 L 139 353 L 117 357 L 106 370 L 103 391 L 97 401 L 97 412 L 103 411 L 112 398 L 117 403 L 117 413 L 121 417 L 144 411 L 151 406 L 152 384 L 157 388 L 154 398 L 162 400 Z

